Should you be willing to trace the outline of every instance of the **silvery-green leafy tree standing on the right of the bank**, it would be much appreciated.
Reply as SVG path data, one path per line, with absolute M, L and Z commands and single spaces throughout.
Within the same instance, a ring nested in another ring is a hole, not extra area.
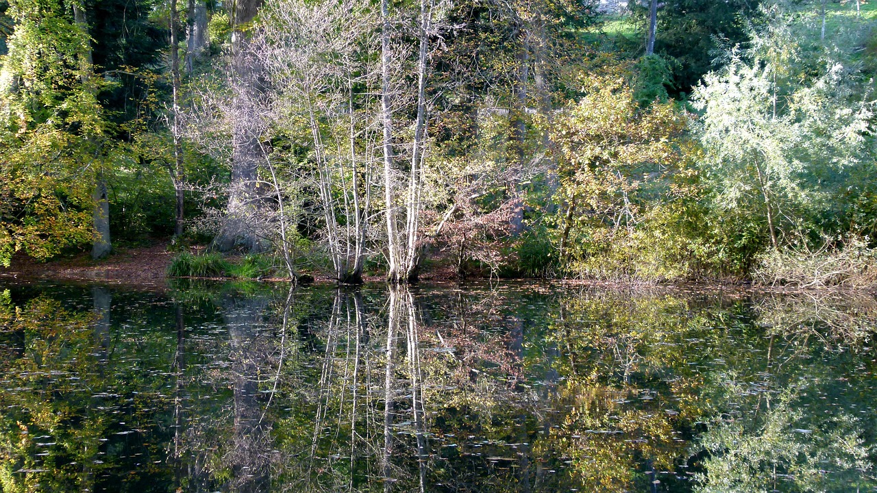
M 758 33 L 750 51 L 732 52 L 695 91 L 701 170 L 714 203 L 757 214 L 774 249 L 793 241 L 784 233 L 823 207 L 832 183 L 865 159 L 872 116 L 869 103 L 851 97 L 855 66 L 827 50 L 815 63 L 805 59 L 801 41 L 777 42 L 782 32 Z M 791 39 L 805 39 L 798 36 Z

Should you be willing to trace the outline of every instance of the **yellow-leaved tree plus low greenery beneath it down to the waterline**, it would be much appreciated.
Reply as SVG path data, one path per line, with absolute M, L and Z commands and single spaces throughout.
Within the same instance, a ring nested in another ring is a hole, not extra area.
M 584 77 L 586 95 L 555 121 L 560 207 L 551 218 L 560 261 L 579 275 L 660 280 L 685 268 L 669 232 L 649 227 L 654 208 L 690 194 L 687 118 L 674 104 L 639 107 L 624 77 Z M 649 247 L 646 247 L 646 246 Z M 659 254 L 660 247 L 670 250 Z M 648 255 L 657 255 L 647 258 Z

